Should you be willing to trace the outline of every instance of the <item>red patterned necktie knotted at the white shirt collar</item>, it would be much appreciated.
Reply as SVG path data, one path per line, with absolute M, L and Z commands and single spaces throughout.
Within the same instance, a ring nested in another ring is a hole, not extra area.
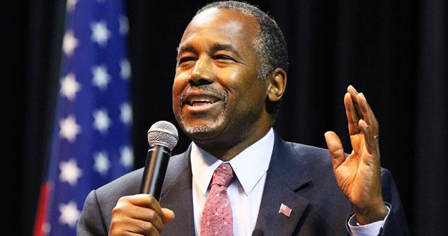
M 227 187 L 234 179 L 229 163 L 222 163 L 214 170 L 212 188 L 202 211 L 201 236 L 233 235 L 233 218 Z

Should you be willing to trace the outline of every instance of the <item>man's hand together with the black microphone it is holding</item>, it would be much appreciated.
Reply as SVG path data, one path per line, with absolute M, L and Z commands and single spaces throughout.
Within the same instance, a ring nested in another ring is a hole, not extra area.
M 121 197 L 112 211 L 109 235 L 132 232 L 159 235 L 163 224 L 174 219 L 174 212 L 159 204 L 171 151 L 178 142 L 176 126 L 156 122 L 148 131 L 149 150 L 144 167 L 140 193 Z

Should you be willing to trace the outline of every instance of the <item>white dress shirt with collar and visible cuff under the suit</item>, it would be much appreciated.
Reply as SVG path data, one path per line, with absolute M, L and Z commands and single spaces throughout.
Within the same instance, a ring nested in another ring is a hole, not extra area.
M 228 162 L 234 170 L 234 179 L 227 187 L 227 194 L 229 194 L 231 203 L 234 235 L 236 236 L 252 235 L 255 229 L 266 182 L 266 172 L 274 148 L 274 139 L 274 131 L 271 128 L 263 138 Z M 209 184 L 214 170 L 223 161 L 202 150 L 194 142 L 191 147 L 190 160 L 193 173 L 195 232 L 199 236 L 202 210 L 210 191 Z M 383 223 L 384 221 L 381 220 L 369 225 L 354 226 L 356 219 L 353 217 L 349 220 L 349 228 L 352 235 L 378 235 Z

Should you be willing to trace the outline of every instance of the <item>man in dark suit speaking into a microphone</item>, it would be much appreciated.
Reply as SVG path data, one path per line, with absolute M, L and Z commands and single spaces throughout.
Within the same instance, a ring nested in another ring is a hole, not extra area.
M 353 151 L 346 158 L 329 131 L 330 156 L 272 130 L 286 84 L 272 18 L 234 1 L 202 8 L 180 40 L 173 82 L 173 112 L 192 145 L 171 158 L 160 203 L 138 194 L 142 169 L 92 191 L 79 235 L 408 234 L 364 95 L 348 87 Z

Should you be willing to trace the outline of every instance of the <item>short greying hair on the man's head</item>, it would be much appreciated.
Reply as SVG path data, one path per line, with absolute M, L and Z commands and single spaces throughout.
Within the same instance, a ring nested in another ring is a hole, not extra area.
M 216 1 L 200 8 L 196 15 L 209 8 L 224 8 L 239 11 L 246 16 L 252 16 L 260 25 L 260 33 L 253 40 L 253 48 L 260 59 L 258 78 L 265 80 L 277 68 L 288 70 L 288 51 L 285 37 L 275 20 L 267 13 L 241 1 Z

